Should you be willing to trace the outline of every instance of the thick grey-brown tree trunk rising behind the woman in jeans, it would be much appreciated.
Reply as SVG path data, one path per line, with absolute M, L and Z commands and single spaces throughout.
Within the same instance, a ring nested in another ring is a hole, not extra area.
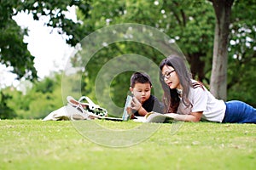
M 217 99 L 227 98 L 228 40 L 230 14 L 234 0 L 212 0 L 216 15 L 212 58 L 211 93 Z

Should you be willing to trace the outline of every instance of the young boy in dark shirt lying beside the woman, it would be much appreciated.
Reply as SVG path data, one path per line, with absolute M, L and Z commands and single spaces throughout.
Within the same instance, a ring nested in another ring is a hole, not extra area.
M 163 104 L 151 95 L 152 83 L 146 73 L 135 72 L 131 76 L 130 91 L 133 94 L 131 109 L 134 116 L 145 116 L 150 111 L 162 113 Z

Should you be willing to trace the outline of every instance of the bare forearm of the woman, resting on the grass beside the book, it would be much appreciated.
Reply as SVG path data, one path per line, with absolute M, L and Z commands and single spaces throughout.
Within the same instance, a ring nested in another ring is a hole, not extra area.
M 180 115 L 177 113 L 167 113 L 168 116 L 171 116 L 176 121 L 185 121 L 185 122 L 199 122 L 201 120 L 202 111 L 192 112 L 189 115 Z

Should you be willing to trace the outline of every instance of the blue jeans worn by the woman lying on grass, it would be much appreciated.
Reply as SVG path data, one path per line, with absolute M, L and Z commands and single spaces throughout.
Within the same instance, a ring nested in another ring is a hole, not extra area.
M 238 100 L 225 102 L 223 122 L 256 123 L 256 109 Z

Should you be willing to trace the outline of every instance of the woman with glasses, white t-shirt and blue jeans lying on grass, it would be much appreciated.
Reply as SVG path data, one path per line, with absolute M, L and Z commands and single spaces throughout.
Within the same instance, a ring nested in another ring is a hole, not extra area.
M 244 102 L 215 99 L 201 82 L 192 79 L 183 58 L 169 56 L 160 63 L 165 113 L 175 120 L 256 123 L 256 109 Z

